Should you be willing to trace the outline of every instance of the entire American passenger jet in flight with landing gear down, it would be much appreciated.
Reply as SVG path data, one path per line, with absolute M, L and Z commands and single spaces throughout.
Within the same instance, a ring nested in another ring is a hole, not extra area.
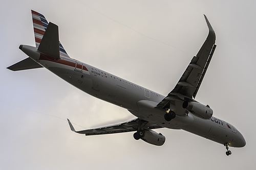
M 182 77 L 166 96 L 117 77 L 102 69 L 70 58 L 59 42 L 58 26 L 45 16 L 31 10 L 35 46 L 20 45 L 28 58 L 7 67 L 10 70 L 26 70 L 45 67 L 61 79 L 98 99 L 127 109 L 137 118 L 100 128 L 76 131 L 68 119 L 72 131 L 88 135 L 135 132 L 136 140 L 161 146 L 165 136 L 153 129 L 181 129 L 206 139 L 224 144 L 226 155 L 229 147 L 246 145 L 243 135 L 233 125 L 212 116 L 209 105 L 195 100 L 212 55 L 216 49 L 216 35 L 204 15 L 208 36 L 196 56 L 192 58 Z

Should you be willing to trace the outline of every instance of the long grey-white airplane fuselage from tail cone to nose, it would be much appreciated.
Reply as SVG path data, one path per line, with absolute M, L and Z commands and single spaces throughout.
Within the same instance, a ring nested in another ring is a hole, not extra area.
M 194 114 L 177 115 L 167 122 L 166 110 L 156 108 L 164 96 L 75 59 L 55 59 L 40 54 L 36 47 L 21 49 L 33 60 L 82 91 L 129 110 L 135 116 L 161 127 L 182 129 L 230 147 L 244 147 L 245 139 L 231 124 L 216 117 L 202 119 Z

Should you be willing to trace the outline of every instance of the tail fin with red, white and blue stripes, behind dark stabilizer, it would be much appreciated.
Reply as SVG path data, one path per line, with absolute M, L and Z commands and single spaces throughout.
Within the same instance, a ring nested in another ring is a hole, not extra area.
M 34 34 L 35 34 L 35 45 L 36 47 L 39 46 L 42 36 L 44 36 L 46 28 L 48 27 L 48 21 L 46 20 L 45 16 L 31 10 L 32 13 L 32 20 L 33 20 L 33 27 L 34 27 Z M 60 57 L 69 57 L 67 52 L 64 50 L 63 46 L 59 42 L 59 54 Z

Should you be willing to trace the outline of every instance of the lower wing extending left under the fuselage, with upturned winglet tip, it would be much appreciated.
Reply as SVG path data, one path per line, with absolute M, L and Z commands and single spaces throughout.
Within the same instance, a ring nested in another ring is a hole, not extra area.
M 135 119 L 130 120 L 128 122 L 124 122 L 124 123 L 117 124 L 117 125 L 111 125 L 111 126 L 88 129 L 88 130 L 81 130 L 81 131 L 76 131 L 69 119 L 68 119 L 68 122 L 69 122 L 70 129 L 73 132 L 80 133 L 80 134 L 85 134 L 87 136 L 89 136 L 89 135 L 112 134 L 112 133 L 122 133 L 122 132 L 132 132 L 132 131 L 137 131 L 138 129 L 150 130 L 150 129 L 162 128 L 161 126 L 158 126 L 156 124 L 147 122 L 147 121 L 145 121 L 143 119 L 140 119 L 140 118 L 135 118 Z M 138 126 L 139 126 L 139 128 L 138 128 Z

